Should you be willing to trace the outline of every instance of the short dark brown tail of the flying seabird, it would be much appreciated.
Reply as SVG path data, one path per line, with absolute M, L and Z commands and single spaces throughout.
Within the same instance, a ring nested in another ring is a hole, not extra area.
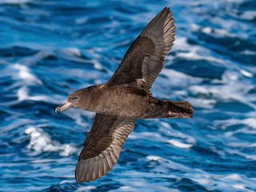
M 189 102 L 167 102 L 167 118 L 192 118 L 194 110 Z

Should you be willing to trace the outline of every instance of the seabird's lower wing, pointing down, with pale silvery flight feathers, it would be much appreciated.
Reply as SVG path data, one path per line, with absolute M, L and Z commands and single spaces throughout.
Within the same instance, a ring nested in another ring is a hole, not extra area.
M 102 178 L 116 164 L 122 145 L 134 129 L 135 118 L 96 114 L 78 158 L 75 178 L 90 182 Z

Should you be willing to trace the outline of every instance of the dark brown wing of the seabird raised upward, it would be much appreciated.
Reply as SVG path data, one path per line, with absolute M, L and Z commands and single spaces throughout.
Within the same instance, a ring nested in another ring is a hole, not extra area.
M 132 86 L 149 92 L 173 46 L 174 29 L 172 12 L 166 7 L 142 30 L 106 85 Z

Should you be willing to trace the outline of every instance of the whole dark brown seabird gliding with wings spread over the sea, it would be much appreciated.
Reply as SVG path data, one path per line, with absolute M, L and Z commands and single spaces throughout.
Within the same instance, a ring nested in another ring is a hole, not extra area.
M 117 163 L 136 118 L 192 118 L 189 102 L 161 101 L 150 88 L 174 45 L 174 18 L 164 8 L 127 50 L 108 82 L 70 94 L 56 113 L 78 107 L 96 113 L 75 170 L 77 182 L 102 178 Z

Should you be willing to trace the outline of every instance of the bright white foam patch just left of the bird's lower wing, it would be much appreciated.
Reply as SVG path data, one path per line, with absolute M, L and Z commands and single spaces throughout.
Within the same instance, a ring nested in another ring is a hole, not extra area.
M 58 151 L 61 156 L 69 156 L 77 153 L 77 149 L 70 144 L 60 144 L 51 140 L 50 135 L 46 134 L 42 129 L 34 126 L 26 128 L 25 133 L 30 136 L 28 150 L 34 150 L 38 153 L 46 151 Z

